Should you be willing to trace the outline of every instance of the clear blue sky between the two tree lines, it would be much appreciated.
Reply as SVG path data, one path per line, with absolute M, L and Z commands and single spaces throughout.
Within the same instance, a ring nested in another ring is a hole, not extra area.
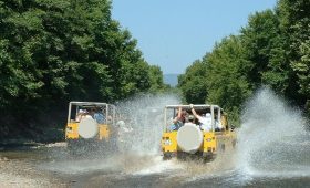
M 138 41 L 149 64 L 184 73 L 215 42 L 238 34 L 256 11 L 277 0 L 113 0 L 112 17 Z

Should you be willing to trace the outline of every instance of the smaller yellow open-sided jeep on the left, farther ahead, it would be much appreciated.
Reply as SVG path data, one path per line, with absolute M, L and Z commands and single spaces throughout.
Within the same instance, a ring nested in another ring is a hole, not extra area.
M 70 102 L 65 140 L 69 148 L 113 145 L 115 106 L 96 102 Z

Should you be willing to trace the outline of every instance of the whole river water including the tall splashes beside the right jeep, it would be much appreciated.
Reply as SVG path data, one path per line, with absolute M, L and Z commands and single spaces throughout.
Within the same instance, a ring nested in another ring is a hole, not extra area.
M 258 91 L 245 105 L 237 148 L 207 164 L 162 160 L 157 122 L 163 117 L 157 109 L 178 103 L 175 96 L 121 103 L 127 118 L 135 116 L 132 127 L 141 132 L 117 153 L 72 157 L 65 145 L 55 144 L 0 155 L 30 164 L 68 187 L 310 187 L 308 123 L 269 88 Z M 142 113 L 146 107 L 154 112 L 149 117 Z

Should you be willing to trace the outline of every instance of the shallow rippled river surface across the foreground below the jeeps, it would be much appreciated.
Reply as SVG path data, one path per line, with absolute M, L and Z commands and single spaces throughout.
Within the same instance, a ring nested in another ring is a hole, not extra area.
M 3 150 L 0 155 L 19 164 L 17 168 L 27 165 L 64 187 L 309 187 L 308 138 L 303 135 L 294 143 L 278 143 L 277 149 L 258 150 L 254 155 L 264 158 L 249 161 L 240 161 L 237 152 L 207 164 L 163 161 L 159 155 L 89 154 L 73 158 L 65 146 Z

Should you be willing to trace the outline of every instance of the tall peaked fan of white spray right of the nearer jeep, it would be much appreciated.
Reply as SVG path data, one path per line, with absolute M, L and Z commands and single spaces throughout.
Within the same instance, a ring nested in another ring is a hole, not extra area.
M 246 104 L 238 133 L 238 168 L 250 176 L 310 175 L 310 139 L 301 112 L 270 88 Z

